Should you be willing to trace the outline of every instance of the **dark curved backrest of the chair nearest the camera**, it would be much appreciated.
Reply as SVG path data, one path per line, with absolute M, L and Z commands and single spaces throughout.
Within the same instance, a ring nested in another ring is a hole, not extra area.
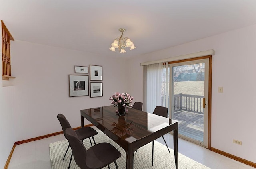
M 76 132 L 74 132 L 74 130 L 71 128 L 67 128 L 64 131 L 64 135 L 72 149 L 72 153 L 78 167 L 81 169 L 88 169 L 85 161 L 87 155 L 86 148 L 84 147 L 82 141 L 78 138 Z

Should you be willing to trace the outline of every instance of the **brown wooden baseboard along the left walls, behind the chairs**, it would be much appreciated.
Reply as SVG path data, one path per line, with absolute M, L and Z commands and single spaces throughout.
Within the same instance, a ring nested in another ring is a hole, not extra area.
M 85 125 L 84 127 L 90 127 L 90 126 L 93 126 L 93 124 L 88 124 L 88 125 Z M 77 130 L 78 128 L 81 128 L 81 127 L 76 127 L 76 128 L 73 128 L 73 130 Z M 52 134 L 46 134 L 44 136 L 39 136 L 39 137 L 35 137 L 35 138 L 30 138 L 30 139 L 27 139 L 27 140 L 22 140 L 22 141 L 17 141 L 14 143 L 13 147 L 12 147 L 12 150 L 10 152 L 10 155 L 8 156 L 7 158 L 7 161 L 4 165 L 4 169 L 7 169 L 8 168 L 8 165 L 11 161 L 11 158 L 12 158 L 12 153 L 16 147 L 16 145 L 20 145 L 20 144 L 24 144 L 24 143 L 28 143 L 28 142 L 31 142 L 31 141 L 36 141 L 36 140 L 40 140 L 40 139 L 43 139 L 43 138 L 48 138 L 48 137 L 52 137 L 52 136 L 56 136 L 56 135 L 59 135 L 59 134 L 62 134 L 63 131 L 61 132 L 56 132 L 56 133 L 52 133 Z

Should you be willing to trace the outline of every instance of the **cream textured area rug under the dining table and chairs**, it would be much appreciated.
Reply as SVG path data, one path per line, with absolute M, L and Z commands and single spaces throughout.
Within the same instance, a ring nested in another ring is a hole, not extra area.
M 126 155 L 124 149 L 108 138 L 108 136 L 106 136 L 100 130 L 97 130 L 97 132 L 98 134 L 94 136 L 96 143 L 108 142 L 114 145 L 122 153 L 122 156 L 116 160 L 118 168 L 125 169 Z M 84 140 L 84 145 L 86 149 L 91 147 L 89 139 Z M 66 158 L 62 160 L 67 147 L 67 140 L 57 141 L 49 144 L 51 169 L 68 168 L 72 152 L 71 149 L 68 150 Z M 210 169 L 180 153 L 178 153 L 178 167 L 179 169 Z M 116 168 L 114 163 L 110 164 L 110 168 Z M 70 169 L 79 169 L 74 161 L 74 157 L 72 159 Z M 104 167 L 104 169 L 108 169 L 108 167 Z M 138 149 L 137 153 L 134 153 L 134 169 L 175 169 L 174 151 L 170 149 L 169 153 L 166 149 L 166 145 L 154 141 L 154 166 L 152 166 L 152 143 L 148 143 L 147 145 L 144 145 Z

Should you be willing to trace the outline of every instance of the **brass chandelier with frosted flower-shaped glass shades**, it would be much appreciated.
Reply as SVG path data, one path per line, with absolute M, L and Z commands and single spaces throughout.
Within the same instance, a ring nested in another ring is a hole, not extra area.
M 123 38 L 123 32 L 125 31 L 124 28 L 119 29 L 120 32 L 122 32 L 122 35 L 120 38 L 116 38 L 114 42 L 111 44 L 111 48 L 109 48 L 111 51 L 115 52 L 116 48 L 118 48 L 120 53 L 125 53 L 126 51 L 124 50 L 126 47 L 130 47 L 130 50 L 135 49 L 136 47 L 134 46 L 133 42 L 128 39 L 128 37 Z

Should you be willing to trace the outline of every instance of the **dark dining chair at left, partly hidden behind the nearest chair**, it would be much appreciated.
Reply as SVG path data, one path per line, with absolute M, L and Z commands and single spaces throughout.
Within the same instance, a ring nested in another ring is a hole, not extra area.
M 58 114 L 58 115 L 57 115 L 57 118 L 58 118 L 58 120 L 60 121 L 60 125 L 61 125 L 61 127 L 62 127 L 63 133 L 65 132 L 65 130 L 66 130 L 67 128 L 71 128 L 71 126 L 70 126 L 68 120 L 66 119 L 66 117 L 65 117 L 63 114 Z M 74 132 L 76 132 L 78 138 L 79 138 L 81 141 L 83 141 L 83 140 L 86 139 L 86 138 L 89 138 L 90 143 L 91 143 L 91 146 L 92 146 L 92 141 L 91 141 L 90 137 L 92 137 L 92 140 L 94 141 L 94 145 L 96 145 L 93 136 L 95 136 L 96 134 L 98 134 L 98 132 L 96 132 L 96 130 L 94 130 L 93 128 L 91 128 L 91 127 L 82 127 L 82 128 L 79 128 L 79 129 L 75 130 Z M 64 155 L 64 157 L 63 157 L 62 160 L 65 159 L 69 147 L 70 147 L 70 145 L 68 145 L 68 148 L 67 148 L 66 153 L 65 153 L 65 155 Z M 72 161 L 72 156 L 70 157 L 68 169 L 70 168 L 71 161 Z

